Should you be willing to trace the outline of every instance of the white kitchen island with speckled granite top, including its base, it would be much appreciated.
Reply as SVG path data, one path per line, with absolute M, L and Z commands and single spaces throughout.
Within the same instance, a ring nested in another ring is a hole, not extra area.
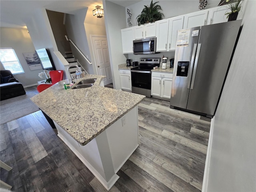
M 92 87 L 65 90 L 64 80 L 31 100 L 52 118 L 58 136 L 109 190 L 138 147 L 137 105 L 145 96 L 105 88 L 105 76 L 86 75 L 79 81 L 92 78 Z

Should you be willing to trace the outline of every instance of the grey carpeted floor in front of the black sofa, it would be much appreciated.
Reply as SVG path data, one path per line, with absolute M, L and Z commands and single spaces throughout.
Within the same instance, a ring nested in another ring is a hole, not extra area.
M 38 111 L 38 106 L 30 100 L 35 95 L 34 93 L 27 93 L 26 95 L 2 100 L 0 102 L 0 124 Z

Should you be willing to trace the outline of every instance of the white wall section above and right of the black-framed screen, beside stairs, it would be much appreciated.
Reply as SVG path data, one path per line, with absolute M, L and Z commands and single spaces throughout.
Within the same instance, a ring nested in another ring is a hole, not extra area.
M 54 54 L 54 51 L 58 51 L 58 48 L 54 40 L 46 9 L 40 8 L 35 10 L 34 15 L 30 17 L 29 20 L 26 20 L 25 23 L 30 33 L 34 47 L 36 49 L 47 48 L 50 51 L 56 70 L 65 71 L 64 65 Z M 66 78 L 65 72 L 63 78 Z

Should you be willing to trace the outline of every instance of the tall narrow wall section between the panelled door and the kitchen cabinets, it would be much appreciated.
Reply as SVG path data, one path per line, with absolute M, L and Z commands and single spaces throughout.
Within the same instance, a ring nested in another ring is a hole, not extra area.
M 125 8 L 110 1 L 103 1 L 103 6 L 113 86 L 121 89 L 118 65 L 126 62 L 121 38 L 121 29 L 126 28 Z

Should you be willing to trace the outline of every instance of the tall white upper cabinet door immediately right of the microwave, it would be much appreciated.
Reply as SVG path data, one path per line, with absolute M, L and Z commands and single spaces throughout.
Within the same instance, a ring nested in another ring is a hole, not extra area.
M 167 51 L 169 20 L 156 21 L 156 51 Z

